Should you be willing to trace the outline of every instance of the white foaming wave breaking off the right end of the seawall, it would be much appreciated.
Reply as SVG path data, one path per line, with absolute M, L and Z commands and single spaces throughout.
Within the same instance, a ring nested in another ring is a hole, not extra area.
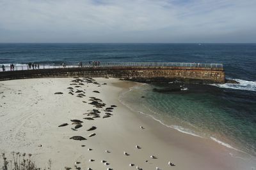
M 232 79 L 239 82 L 239 84 L 234 83 L 225 83 L 225 84 L 211 84 L 216 87 L 225 88 L 225 89 L 236 89 L 236 90 L 249 90 L 256 92 L 256 81 L 247 81 L 241 79 Z

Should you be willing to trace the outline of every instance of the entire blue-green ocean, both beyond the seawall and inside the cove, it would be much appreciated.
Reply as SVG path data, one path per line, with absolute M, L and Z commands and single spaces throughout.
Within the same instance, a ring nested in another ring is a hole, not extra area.
M 0 44 L 0 64 L 100 62 L 221 63 L 239 84 L 144 84 L 120 96 L 134 111 L 256 157 L 256 44 Z M 158 90 L 155 90 L 158 89 Z M 143 98 L 141 96 L 144 96 Z

